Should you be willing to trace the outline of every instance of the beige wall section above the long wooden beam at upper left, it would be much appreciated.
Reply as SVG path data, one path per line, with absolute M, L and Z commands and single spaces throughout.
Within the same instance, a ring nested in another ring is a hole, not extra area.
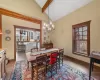
M 46 14 L 42 13 L 41 8 L 34 0 L 0 0 L 0 7 L 12 10 L 33 18 L 47 20 Z

